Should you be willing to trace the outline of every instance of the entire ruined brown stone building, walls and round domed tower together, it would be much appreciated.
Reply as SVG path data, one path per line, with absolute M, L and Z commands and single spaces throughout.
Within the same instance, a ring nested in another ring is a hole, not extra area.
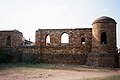
M 37 54 L 42 63 L 69 63 L 99 67 L 116 67 L 119 56 L 116 46 L 116 21 L 102 16 L 92 28 L 38 29 L 35 45 L 22 46 L 22 33 L 0 31 L 0 47 L 20 47 L 23 54 Z M 66 35 L 67 42 L 62 42 Z

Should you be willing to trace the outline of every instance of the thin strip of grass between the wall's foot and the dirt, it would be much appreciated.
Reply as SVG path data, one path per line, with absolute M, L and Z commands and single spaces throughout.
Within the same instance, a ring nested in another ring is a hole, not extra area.
M 109 70 L 117 70 L 116 68 L 93 68 L 85 67 L 81 65 L 68 65 L 68 64 L 25 64 L 25 63 L 9 63 L 9 64 L 0 64 L 0 70 L 10 69 L 10 68 L 41 68 L 41 69 L 63 69 L 63 70 L 74 70 L 74 71 L 102 71 L 106 72 Z

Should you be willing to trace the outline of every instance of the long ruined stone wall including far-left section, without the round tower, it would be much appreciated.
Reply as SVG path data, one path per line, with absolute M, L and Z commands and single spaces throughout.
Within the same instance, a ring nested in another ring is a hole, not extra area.
M 91 30 L 91 28 L 41 29 L 36 31 L 36 45 L 27 47 L 19 46 L 22 34 L 18 31 L 1 31 L 1 40 L 4 41 L 3 46 L 6 47 L 6 37 L 11 37 L 11 46 L 7 47 L 7 52 L 10 52 L 9 49 L 12 50 L 16 54 L 14 58 L 19 56 L 18 61 L 85 64 L 87 54 L 91 52 Z M 69 43 L 61 43 L 61 36 L 64 33 L 69 35 Z M 48 35 L 50 35 L 50 43 L 46 44 Z M 85 44 L 81 43 L 81 38 L 85 38 Z

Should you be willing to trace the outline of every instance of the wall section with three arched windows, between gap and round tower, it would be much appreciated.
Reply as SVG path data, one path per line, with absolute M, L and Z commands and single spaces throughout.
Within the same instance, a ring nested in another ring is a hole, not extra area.
M 91 28 L 83 29 L 39 29 L 36 31 L 35 46 L 41 48 L 41 60 L 44 63 L 85 64 L 87 54 L 91 52 Z M 69 43 L 61 43 L 61 36 L 67 33 Z M 50 35 L 49 45 L 46 37 Z M 81 39 L 85 38 L 85 44 Z

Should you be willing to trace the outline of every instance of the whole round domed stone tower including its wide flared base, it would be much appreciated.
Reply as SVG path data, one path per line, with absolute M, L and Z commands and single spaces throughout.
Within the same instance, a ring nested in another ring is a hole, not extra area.
M 116 66 L 116 21 L 102 16 L 92 23 L 92 47 L 87 65 L 99 67 Z

